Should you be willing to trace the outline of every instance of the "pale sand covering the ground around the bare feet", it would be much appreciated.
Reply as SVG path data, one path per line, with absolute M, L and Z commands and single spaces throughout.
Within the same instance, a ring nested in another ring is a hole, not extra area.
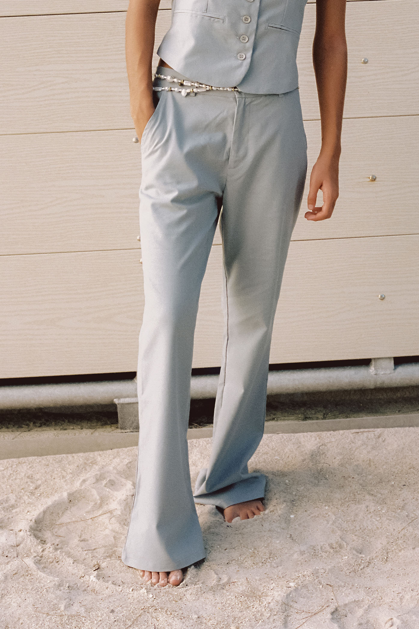
M 136 447 L 3 460 L 0 627 L 417 629 L 418 454 L 418 428 L 265 435 L 266 512 L 199 506 L 207 559 L 161 589 L 120 559 Z

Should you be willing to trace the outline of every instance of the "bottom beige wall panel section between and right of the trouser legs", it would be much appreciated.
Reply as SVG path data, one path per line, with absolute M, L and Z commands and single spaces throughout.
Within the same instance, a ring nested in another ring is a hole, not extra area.
M 219 249 L 213 248 L 207 268 L 214 294 L 209 306 L 200 304 L 194 367 L 220 364 Z M 417 235 L 292 242 L 271 364 L 419 353 L 418 250 Z

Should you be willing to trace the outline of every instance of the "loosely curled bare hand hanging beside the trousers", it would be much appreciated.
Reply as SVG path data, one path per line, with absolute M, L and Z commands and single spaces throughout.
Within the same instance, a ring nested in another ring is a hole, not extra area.
M 323 205 L 315 207 L 317 192 L 323 192 Z M 304 214 L 308 221 L 324 221 L 330 218 L 339 196 L 339 157 L 318 156 L 310 175 L 310 191 L 307 206 L 310 211 Z

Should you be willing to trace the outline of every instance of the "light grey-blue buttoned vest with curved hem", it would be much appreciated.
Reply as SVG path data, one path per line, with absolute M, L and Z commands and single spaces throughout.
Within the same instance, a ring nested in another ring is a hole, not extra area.
M 172 0 L 158 55 L 190 79 L 253 94 L 298 87 L 307 0 Z

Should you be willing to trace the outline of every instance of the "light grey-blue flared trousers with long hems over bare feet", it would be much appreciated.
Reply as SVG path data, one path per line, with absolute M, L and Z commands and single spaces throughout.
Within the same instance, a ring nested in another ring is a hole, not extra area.
M 171 571 L 205 557 L 195 503 L 225 508 L 264 496 L 266 479 L 249 473 L 248 461 L 263 435 L 272 326 L 302 203 L 307 139 L 298 88 L 194 97 L 161 91 L 155 104 L 141 140 L 140 421 L 122 561 Z M 212 454 L 193 493 L 187 447 L 193 335 L 218 220 L 224 347 Z

